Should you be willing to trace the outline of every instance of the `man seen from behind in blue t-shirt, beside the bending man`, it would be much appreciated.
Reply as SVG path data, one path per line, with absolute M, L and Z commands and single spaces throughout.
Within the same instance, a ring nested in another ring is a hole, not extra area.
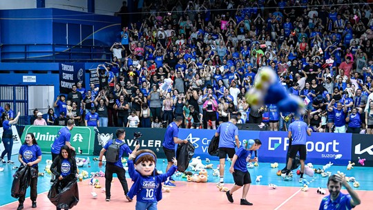
M 215 136 L 220 136 L 219 140 L 219 162 L 220 162 L 220 181 L 219 186 L 224 186 L 224 166 L 225 158 L 233 158 L 236 153 L 235 148 L 240 148 L 240 140 L 238 139 L 238 128 L 236 126 L 238 119 L 236 116 L 231 116 L 229 122 L 223 122 L 216 130 Z M 233 165 L 233 164 L 232 164 Z

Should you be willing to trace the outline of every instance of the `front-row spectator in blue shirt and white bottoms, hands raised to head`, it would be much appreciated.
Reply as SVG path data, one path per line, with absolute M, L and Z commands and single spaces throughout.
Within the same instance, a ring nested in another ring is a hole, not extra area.
M 347 104 L 344 104 L 342 109 L 341 102 L 338 102 L 336 107 L 334 106 L 335 103 L 336 100 L 332 99 L 327 105 L 327 111 L 334 113 L 334 133 L 346 133 Z

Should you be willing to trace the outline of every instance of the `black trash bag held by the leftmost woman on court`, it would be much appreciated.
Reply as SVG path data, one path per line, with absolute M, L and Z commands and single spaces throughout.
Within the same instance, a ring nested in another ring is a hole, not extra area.
M 13 183 L 11 195 L 13 198 L 19 198 L 26 193 L 26 189 L 30 186 L 30 166 L 20 166 L 17 169 Z

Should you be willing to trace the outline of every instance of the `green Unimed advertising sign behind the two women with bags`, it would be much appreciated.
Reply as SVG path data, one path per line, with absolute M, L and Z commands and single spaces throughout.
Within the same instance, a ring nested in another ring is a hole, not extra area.
M 24 142 L 27 133 L 34 133 L 41 152 L 50 153 L 50 148 L 61 128 L 63 126 L 26 126 L 25 130 L 23 130 L 21 140 Z M 75 126 L 70 133 L 70 144 L 76 150 L 80 147 L 83 155 L 93 155 L 93 147 L 95 146 L 95 131 L 93 127 Z

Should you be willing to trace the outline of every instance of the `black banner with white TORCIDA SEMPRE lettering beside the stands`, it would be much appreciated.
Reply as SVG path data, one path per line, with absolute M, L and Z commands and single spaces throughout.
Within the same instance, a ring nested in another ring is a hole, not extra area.
M 73 84 L 82 82 L 84 86 L 84 73 L 86 72 L 83 63 L 60 63 L 59 64 L 59 93 L 68 94 Z

